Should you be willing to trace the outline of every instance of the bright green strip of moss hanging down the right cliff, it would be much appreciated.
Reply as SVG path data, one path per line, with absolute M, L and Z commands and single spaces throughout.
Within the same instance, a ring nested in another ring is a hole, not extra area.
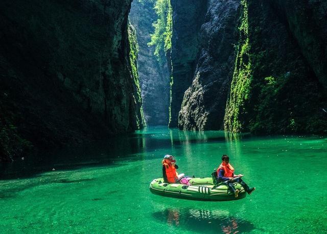
M 239 25 L 239 42 L 237 45 L 235 70 L 233 72 L 230 95 L 227 100 L 224 117 L 224 128 L 225 131 L 229 132 L 242 131 L 240 114 L 244 111 L 244 101 L 248 99 L 250 92 L 251 58 L 249 54 L 248 6 L 245 0 L 241 2 Z

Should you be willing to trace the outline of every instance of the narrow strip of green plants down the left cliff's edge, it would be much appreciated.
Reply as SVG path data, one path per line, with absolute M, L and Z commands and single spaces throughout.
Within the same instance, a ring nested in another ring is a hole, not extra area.
M 130 22 L 128 23 L 128 41 L 130 46 L 129 59 L 131 65 L 131 73 L 134 81 L 133 96 L 136 101 L 136 113 L 135 113 L 136 126 L 138 129 L 140 129 L 146 126 L 146 122 L 143 115 L 141 87 L 139 86 L 139 79 L 138 79 L 138 72 L 137 72 L 138 44 L 137 44 L 135 29 L 133 28 L 133 25 Z

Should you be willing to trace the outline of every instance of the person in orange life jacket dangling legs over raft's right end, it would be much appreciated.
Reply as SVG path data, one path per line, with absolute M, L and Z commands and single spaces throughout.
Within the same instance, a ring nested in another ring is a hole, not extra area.
M 229 164 L 229 157 L 227 155 L 223 155 L 221 157 L 222 163 L 217 169 L 217 179 L 218 183 L 226 181 L 229 190 L 235 194 L 235 197 L 239 196 L 239 190 L 235 189 L 233 183 L 237 182 L 242 185 L 244 190 L 251 194 L 255 188 L 249 188 L 247 184 L 241 179 L 243 176 L 242 174 L 234 175 L 234 168 Z

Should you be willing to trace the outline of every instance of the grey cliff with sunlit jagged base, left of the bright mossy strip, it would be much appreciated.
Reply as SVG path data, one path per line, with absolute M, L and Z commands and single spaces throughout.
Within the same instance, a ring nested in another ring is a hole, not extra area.
M 184 94 L 178 116 L 181 129 L 221 129 L 223 126 L 235 59 L 233 44 L 236 43 L 234 32 L 239 5 L 238 0 L 208 2 L 200 31 L 200 56 L 195 72 L 190 70 L 193 83 Z M 175 64 L 173 66 L 175 70 Z

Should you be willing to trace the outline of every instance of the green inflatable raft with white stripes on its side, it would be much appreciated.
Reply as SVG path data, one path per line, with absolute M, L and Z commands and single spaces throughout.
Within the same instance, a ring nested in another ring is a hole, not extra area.
M 234 183 L 235 188 L 238 189 L 239 196 L 236 198 L 224 183 L 219 184 L 213 189 L 212 178 L 192 178 L 190 180 L 191 186 L 183 184 L 167 184 L 164 183 L 163 178 L 153 179 L 150 183 L 150 191 L 153 194 L 190 199 L 201 201 L 230 201 L 239 200 L 246 196 L 243 187 Z

